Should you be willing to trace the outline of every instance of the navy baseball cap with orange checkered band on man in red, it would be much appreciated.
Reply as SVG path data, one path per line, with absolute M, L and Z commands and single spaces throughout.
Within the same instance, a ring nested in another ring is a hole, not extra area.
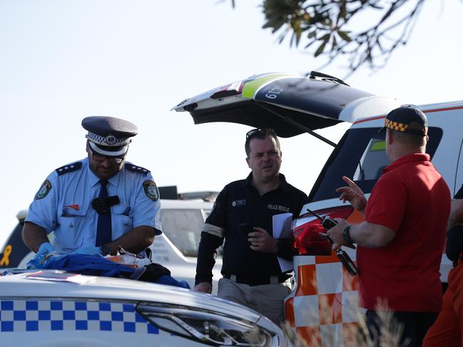
M 390 130 L 412 135 L 427 135 L 427 118 L 424 113 L 412 105 L 401 106 L 387 114 L 385 126 L 378 133 Z

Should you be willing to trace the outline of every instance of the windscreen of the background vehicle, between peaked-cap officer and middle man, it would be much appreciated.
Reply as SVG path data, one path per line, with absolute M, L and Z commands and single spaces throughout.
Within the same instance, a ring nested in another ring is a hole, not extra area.
M 185 257 L 198 257 L 204 219 L 201 209 L 161 209 L 163 233 Z

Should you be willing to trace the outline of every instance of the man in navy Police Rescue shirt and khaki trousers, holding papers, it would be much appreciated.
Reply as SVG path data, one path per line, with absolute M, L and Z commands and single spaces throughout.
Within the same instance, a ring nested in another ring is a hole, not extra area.
M 246 134 L 248 178 L 231 182 L 215 200 L 206 219 L 198 250 L 196 291 L 212 291 L 212 269 L 223 244 L 223 278 L 218 296 L 255 309 L 275 322 L 284 320 L 283 300 L 290 292 L 278 257 L 291 259 L 290 239 L 272 237 L 273 215 L 297 217 L 307 198 L 280 174 L 280 142 L 271 129 Z M 240 224 L 252 229 L 246 232 Z

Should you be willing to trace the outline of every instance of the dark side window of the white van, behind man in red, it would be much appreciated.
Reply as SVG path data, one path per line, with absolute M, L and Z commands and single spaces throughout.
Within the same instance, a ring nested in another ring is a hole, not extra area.
M 346 184 L 342 176 L 353 180 L 365 194 L 372 191 L 382 170 L 390 164 L 386 154 L 385 132 L 380 128 L 347 130 L 325 167 L 320 172 L 308 197 L 309 202 L 339 197 L 336 188 Z M 429 128 L 426 152 L 431 156 L 442 138 L 441 128 Z

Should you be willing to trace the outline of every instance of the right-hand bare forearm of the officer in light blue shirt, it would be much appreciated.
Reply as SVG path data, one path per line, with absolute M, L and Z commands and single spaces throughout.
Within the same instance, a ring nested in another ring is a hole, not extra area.
M 154 229 L 152 227 L 136 227 L 123 234 L 118 239 L 106 244 L 111 249 L 111 254 L 116 254 L 118 247 L 128 252 L 139 253 L 150 247 L 154 241 Z

